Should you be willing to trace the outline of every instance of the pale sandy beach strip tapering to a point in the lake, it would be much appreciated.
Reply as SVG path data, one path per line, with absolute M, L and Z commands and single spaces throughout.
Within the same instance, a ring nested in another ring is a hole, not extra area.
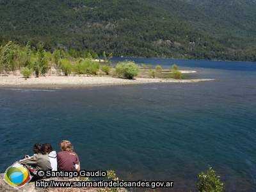
M 27 80 L 23 76 L 9 75 L 0 76 L 0 87 L 15 88 L 81 88 L 93 86 L 114 86 L 126 84 L 144 83 L 196 83 L 200 81 L 212 81 L 214 79 L 158 79 L 158 78 L 135 78 L 120 79 L 111 76 L 84 77 L 84 76 L 31 76 Z

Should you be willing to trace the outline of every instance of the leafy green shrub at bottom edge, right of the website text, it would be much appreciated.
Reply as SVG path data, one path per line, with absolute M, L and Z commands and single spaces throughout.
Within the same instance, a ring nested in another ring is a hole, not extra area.
M 215 171 L 212 170 L 209 166 L 207 173 L 199 173 L 198 182 L 196 184 L 198 191 L 223 191 L 223 182 L 220 182 L 220 176 L 215 174 Z

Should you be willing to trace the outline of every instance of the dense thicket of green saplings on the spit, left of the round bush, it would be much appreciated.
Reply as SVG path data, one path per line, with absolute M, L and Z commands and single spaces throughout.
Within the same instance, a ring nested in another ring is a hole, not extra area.
M 68 76 L 72 72 L 74 74 L 92 74 L 101 69 L 102 72 L 108 74 L 111 67 L 112 54 L 106 56 L 103 52 L 103 59 L 99 62 L 93 62 L 93 59 L 99 59 L 99 56 L 92 50 L 76 51 L 74 49 L 64 51 L 62 47 L 53 52 L 46 51 L 43 45 L 39 45 L 38 49 L 26 44 L 22 46 L 12 41 L 6 42 L 0 47 L 0 73 L 7 76 L 10 73 L 15 74 L 20 70 L 25 78 L 34 72 L 36 77 L 45 76 L 47 72 L 51 74 L 51 67 L 61 74 Z

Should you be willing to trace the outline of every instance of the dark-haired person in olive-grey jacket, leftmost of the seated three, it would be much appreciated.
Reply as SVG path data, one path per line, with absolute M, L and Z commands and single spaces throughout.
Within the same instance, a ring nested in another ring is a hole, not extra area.
M 31 175 L 36 176 L 38 170 L 51 170 L 50 159 L 45 155 L 44 145 L 42 143 L 35 143 L 33 147 L 34 155 L 29 157 L 25 156 L 25 159 L 21 159 L 19 162 L 28 168 Z

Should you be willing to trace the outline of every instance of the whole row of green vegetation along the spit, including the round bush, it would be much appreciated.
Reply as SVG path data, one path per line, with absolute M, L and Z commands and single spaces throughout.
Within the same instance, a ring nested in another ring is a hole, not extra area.
M 44 46 L 40 45 L 38 49 L 31 49 L 31 45 L 26 46 L 14 44 L 12 41 L 1 45 L 0 47 L 0 73 L 3 76 L 15 74 L 17 70 L 24 76 L 25 79 L 34 73 L 36 77 L 45 76 L 49 72 L 51 76 L 52 67 L 55 68 L 56 75 L 68 76 L 73 75 L 109 75 L 111 72 L 112 54 L 106 55 L 103 52 L 102 60 L 92 50 L 75 51 L 74 49 L 63 50 L 63 47 L 56 49 L 53 52 L 45 51 Z M 94 62 L 93 59 L 98 59 L 99 62 Z M 161 76 L 162 67 L 157 64 L 156 69 L 152 69 L 152 65 L 141 65 L 146 71 L 149 70 L 149 77 L 164 77 Z M 120 61 L 112 70 L 113 76 L 125 79 L 133 79 L 139 74 L 140 66 L 134 61 Z M 181 79 L 182 74 L 179 72 L 177 65 L 173 65 L 173 69 L 169 68 L 170 74 L 166 77 Z M 145 72 L 144 71 L 144 72 Z M 172 72 L 172 73 L 171 73 Z

